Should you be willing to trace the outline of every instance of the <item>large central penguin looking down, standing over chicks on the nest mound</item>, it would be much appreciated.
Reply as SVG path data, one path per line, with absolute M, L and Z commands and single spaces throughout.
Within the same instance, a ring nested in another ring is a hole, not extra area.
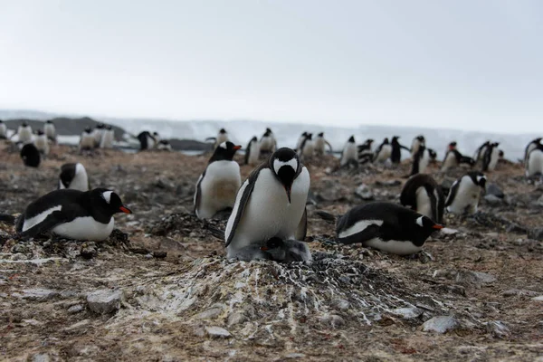
M 240 187 L 224 233 L 228 258 L 252 259 L 243 253 L 274 236 L 305 240 L 310 173 L 291 148 L 279 148 Z

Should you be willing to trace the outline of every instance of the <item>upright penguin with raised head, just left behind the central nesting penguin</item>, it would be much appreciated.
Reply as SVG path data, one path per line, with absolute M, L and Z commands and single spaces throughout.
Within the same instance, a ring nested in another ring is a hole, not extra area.
M 217 212 L 233 207 L 235 195 L 242 185 L 240 166 L 233 161 L 233 155 L 240 148 L 226 141 L 215 148 L 209 158 L 196 183 L 194 205 L 199 219 L 210 219 Z

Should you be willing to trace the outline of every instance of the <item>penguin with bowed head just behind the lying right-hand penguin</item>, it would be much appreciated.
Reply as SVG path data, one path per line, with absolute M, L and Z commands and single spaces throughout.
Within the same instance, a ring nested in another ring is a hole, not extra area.
M 441 186 L 430 175 L 409 177 L 402 189 L 400 204 L 428 216 L 437 224 L 443 223 L 445 197 Z

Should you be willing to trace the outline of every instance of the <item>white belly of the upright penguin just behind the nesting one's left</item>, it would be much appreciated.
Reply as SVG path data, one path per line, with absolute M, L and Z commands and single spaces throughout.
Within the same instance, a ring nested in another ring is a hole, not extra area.
M 235 195 L 241 185 L 242 176 L 237 162 L 213 162 L 205 170 L 204 179 L 200 183 L 202 194 L 196 215 L 200 219 L 209 219 L 218 211 L 233 207 Z

